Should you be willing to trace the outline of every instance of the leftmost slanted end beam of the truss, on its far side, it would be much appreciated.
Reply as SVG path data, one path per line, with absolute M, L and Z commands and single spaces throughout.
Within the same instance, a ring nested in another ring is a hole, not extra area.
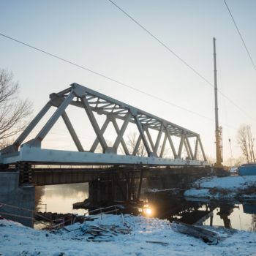
M 42 119 L 43 116 L 45 116 L 45 113 L 48 112 L 50 107 L 52 106 L 51 102 L 49 101 L 43 108 L 40 110 L 40 112 L 37 114 L 37 116 L 34 117 L 34 119 L 31 121 L 31 123 L 26 127 L 26 129 L 20 134 L 20 136 L 15 140 L 13 143 L 14 146 L 18 147 L 21 143 L 27 138 L 29 133 L 34 129 L 34 127 L 38 124 L 38 122 Z

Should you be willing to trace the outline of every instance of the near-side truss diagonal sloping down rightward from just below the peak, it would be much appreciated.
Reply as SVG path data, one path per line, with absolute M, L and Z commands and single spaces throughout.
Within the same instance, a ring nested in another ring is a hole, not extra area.
M 99 140 L 100 145 L 102 146 L 103 153 L 105 153 L 106 149 L 108 148 L 108 145 L 105 141 L 105 138 L 102 135 L 101 130 L 99 129 L 99 125 L 97 123 L 97 120 L 94 116 L 94 113 L 92 113 L 91 107 L 89 105 L 89 102 L 86 99 L 86 96 L 83 98 L 80 98 L 83 103 L 83 108 L 86 110 L 87 116 L 89 117 L 89 120 L 91 121 L 91 125 L 94 128 L 94 132 L 97 135 L 97 138 Z

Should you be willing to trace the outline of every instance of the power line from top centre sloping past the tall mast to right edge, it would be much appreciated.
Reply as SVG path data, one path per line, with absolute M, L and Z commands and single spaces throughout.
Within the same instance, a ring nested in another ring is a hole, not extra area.
M 170 53 L 172 53 L 174 56 L 176 56 L 176 58 L 178 58 L 181 62 L 183 62 L 187 67 L 189 67 L 189 69 L 191 69 L 193 72 L 195 72 L 196 75 L 198 75 L 200 78 L 202 78 L 204 81 L 206 81 L 206 83 L 208 83 L 209 86 L 214 88 L 214 85 L 207 80 L 206 78 L 203 77 L 203 75 L 200 75 L 199 72 L 197 72 L 197 70 L 195 70 L 191 65 L 189 65 L 187 63 L 187 61 L 184 61 L 184 59 L 182 59 L 180 56 L 178 56 L 177 53 L 175 53 L 173 50 L 171 50 L 167 45 L 165 45 L 164 42 L 162 42 L 158 37 L 156 37 L 154 34 L 151 33 L 151 31 L 148 31 L 148 29 L 146 29 L 143 25 L 141 25 L 137 20 L 135 20 L 135 18 L 132 18 L 131 15 L 129 15 L 127 12 L 125 12 L 123 9 L 121 9 L 121 7 L 119 7 L 114 1 L 112 0 L 108 0 L 110 1 L 111 4 L 113 4 L 116 8 L 118 8 L 118 10 L 120 10 L 121 12 L 123 12 L 125 15 L 127 15 L 127 17 L 129 19 L 131 19 L 134 23 L 136 23 L 138 26 L 140 26 L 141 29 L 143 29 L 144 31 L 146 31 L 146 33 L 148 33 L 151 37 L 153 37 L 154 39 L 157 40 L 157 42 L 159 42 L 160 45 L 162 45 L 165 49 L 167 49 Z M 225 0 L 224 0 L 225 1 Z M 239 33 L 240 34 L 240 33 Z M 244 42 L 244 40 L 243 40 Z M 252 61 L 253 63 L 253 61 Z M 219 91 L 219 90 L 218 90 Z M 242 113 L 246 114 L 246 116 L 249 116 L 248 113 L 246 113 L 245 110 L 243 110 L 242 108 L 240 108 L 235 102 L 233 102 L 233 100 L 231 100 L 229 97 L 227 97 L 224 93 L 222 93 L 222 91 L 219 91 L 219 94 L 222 94 L 223 97 L 225 97 L 225 99 L 227 99 L 231 104 L 233 104 L 234 106 L 236 106 L 236 108 L 238 108 L 238 110 L 241 110 Z M 256 121 L 254 118 L 252 118 L 252 116 L 249 116 L 249 118 L 251 118 L 252 120 Z

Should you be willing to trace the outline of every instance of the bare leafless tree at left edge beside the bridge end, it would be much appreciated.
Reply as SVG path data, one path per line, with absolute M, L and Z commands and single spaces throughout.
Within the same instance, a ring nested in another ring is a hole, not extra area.
M 7 146 L 9 138 L 23 130 L 32 113 L 28 99 L 18 97 L 19 86 L 12 72 L 0 69 L 0 146 Z

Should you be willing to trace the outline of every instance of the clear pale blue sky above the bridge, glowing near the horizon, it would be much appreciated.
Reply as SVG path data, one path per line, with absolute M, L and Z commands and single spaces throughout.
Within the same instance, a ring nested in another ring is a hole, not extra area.
M 236 134 L 252 124 L 256 136 L 256 71 L 222 0 L 115 0 L 203 77 L 214 83 L 213 43 L 217 38 L 219 124 L 223 127 L 224 158 L 240 149 Z M 227 0 L 256 61 L 256 1 Z M 129 20 L 108 0 L 0 1 L 0 33 L 61 56 L 96 72 L 165 99 L 173 105 L 105 80 L 0 37 L 0 67 L 11 70 L 20 95 L 34 102 L 34 114 L 48 95 L 80 83 L 126 102 L 201 136 L 206 154 L 214 157 L 214 89 Z M 202 117 L 204 116 L 204 117 Z M 78 122 L 80 116 L 73 116 Z M 69 143 L 64 128 L 53 127 L 51 143 Z M 94 134 L 78 125 L 78 134 Z M 70 142 L 71 143 L 71 142 Z

